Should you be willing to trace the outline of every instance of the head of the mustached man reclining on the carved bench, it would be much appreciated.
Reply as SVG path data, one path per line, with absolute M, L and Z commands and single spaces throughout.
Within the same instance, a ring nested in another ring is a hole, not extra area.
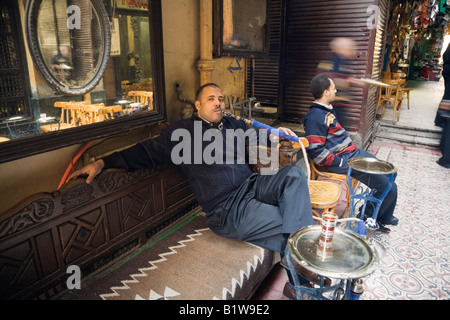
M 195 101 L 195 107 L 200 118 L 214 123 L 222 121 L 222 111 L 225 111 L 225 99 L 222 90 L 208 86 L 203 89 L 199 99 Z

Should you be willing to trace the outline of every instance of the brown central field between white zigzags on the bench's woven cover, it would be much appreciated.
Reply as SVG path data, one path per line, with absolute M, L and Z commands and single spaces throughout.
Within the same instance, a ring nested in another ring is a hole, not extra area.
M 233 255 L 240 250 L 247 253 L 252 250 L 253 261 Z M 112 286 L 112 292 L 100 297 L 104 300 L 229 299 L 262 263 L 264 249 L 219 237 L 209 228 L 203 228 L 158 256 L 159 259 L 148 261 L 149 266 L 131 274 L 131 279 L 120 281 L 121 285 Z M 217 257 L 221 258 L 217 260 Z M 191 263 L 193 261 L 196 263 Z M 198 281 L 199 277 L 203 281 Z

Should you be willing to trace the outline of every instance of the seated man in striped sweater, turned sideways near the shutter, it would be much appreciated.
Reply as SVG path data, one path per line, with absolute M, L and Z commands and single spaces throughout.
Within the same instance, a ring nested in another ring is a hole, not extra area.
M 351 138 L 339 124 L 333 102 L 336 87 L 333 80 L 327 74 L 319 74 L 311 81 L 311 91 L 314 97 L 308 113 L 302 122 L 305 126 L 305 135 L 309 141 L 307 149 L 309 157 L 318 166 L 324 167 L 329 172 L 347 174 L 347 160 L 358 157 L 375 158 L 365 150 L 356 148 Z M 389 183 L 387 175 L 372 175 L 356 170 L 352 171 L 352 177 L 361 181 L 371 189 L 375 189 L 374 196 L 379 198 Z M 392 185 L 381 204 L 377 222 L 379 230 L 389 232 L 386 225 L 397 225 L 398 219 L 393 216 L 397 203 L 397 185 Z M 372 216 L 373 204 L 368 203 L 365 211 L 365 219 Z

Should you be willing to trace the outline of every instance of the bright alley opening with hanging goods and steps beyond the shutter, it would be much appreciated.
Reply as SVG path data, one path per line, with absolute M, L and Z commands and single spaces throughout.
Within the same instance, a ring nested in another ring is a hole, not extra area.
M 410 94 L 409 100 L 406 95 L 401 97 L 395 125 L 392 105 L 386 107 L 378 119 L 377 138 L 439 145 L 441 128 L 434 119 L 444 93 L 442 54 L 450 43 L 445 4 L 439 0 L 392 2 L 383 70 L 405 73 L 404 87 Z

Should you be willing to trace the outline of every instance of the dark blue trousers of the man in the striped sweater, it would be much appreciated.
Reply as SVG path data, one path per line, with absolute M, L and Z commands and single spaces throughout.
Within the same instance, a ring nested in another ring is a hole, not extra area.
M 342 167 L 328 167 L 327 171 L 346 175 L 349 168 L 347 165 L 348 159 L 359 157 L 375 158 L 375 156 L 373 156 L 371 153 L 361 149 L 356 149 L 354 152 L 340 155 L 340 157 L 344 159 Z M 389 185 L 389 176 L 384 174 L 368 174 L 352 170 L 351 176 L 356 180 L 364 183 L 370 189 L 372 190 L 375 189 L 376 191 L 374 193 L 374 196 L 376 198 L 380 198 L 384 190 L 386 190 L 387 186 Z M 386 195 L 386 198 L 384 198 L 380 206 L 377 221 L 380 223 L 389 222 L 394 215 L 396 204 L 397 204 L 397 185 L 394 182 L 391 187 L 391 190 L 389 190 L 388 194 Z M 372 216 L 373 209 L 374 204 L 372 204 L 371 202 L 368 203 L 366 206 L 366 211 L 364 212 L 365 215 Z

